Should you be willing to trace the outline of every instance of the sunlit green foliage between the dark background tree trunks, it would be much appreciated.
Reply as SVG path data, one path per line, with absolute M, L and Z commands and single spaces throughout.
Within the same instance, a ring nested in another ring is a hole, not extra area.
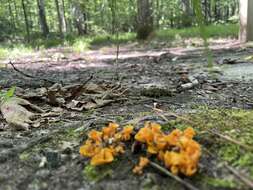
M 55 1 L 44 1 L 46 20 L 50 30 L 50 36 L 47 38 L 34 36 L 41 34 L 37 1 L 25 0 L 24 2 L 28 15 L 28 27 L 31 32 L 31 39 L 35 41 L 34 44 L 39 44 L 39 47 L 48 48 L 65 43 L 65 40 L 62 40 L 62 36 L 59 35 L 59 19 L 57 17 Z M 152 1 L 151 8 L 153 10 L 152 17 L 155 28 L 161 30 L 169 28 L 179 29 L 195 26 L 200 21 L 201 23 L 222 24 L 238 21 L 238 3 L 236 1 L 207 0 L 200 3 L 199 0 L 189 0 L 188 2 L 190 3 L 188 5 L 185 2 L 187 1 Z M 64 0 L 64 5 L 62 1 L 59 1 L 59 7 L 64 13 L 64 20 L 67 26 L 66 31 L 64 31 L 64 38 L 77 34 L 75 19 L 84 15 L 86 15 L 86 18 L 82 24 L 85 26 L 88 34 L 103 36 L 112 33 L 113 28 L 120 33 L 132 33 L 138 29 L 136 0 Z M 73 10 L 75 7 L 79 7 L 79 15 L 74 14 Z M 197 15 L 197 20 L 194 20 L 194 11 Z M 200 15 L 204 15 L 204 17 L 200 18 Z M 24 12 L 20 1 L 2 1 L 0 5 L 0 41 L 19 41 L 22 39 L 20 37 L 25 36 L 25 26 Z M 205 32 L 201 33 L 202 36 L 207 34 Z M 38 38 L 41 38 L 41 40 L 37 40 Z M 81 45 L 79 44 L 79 46 Z M 83 48 L 80 47 L 79 49 Z M 0 54 L 3 53 L 0 51 Z

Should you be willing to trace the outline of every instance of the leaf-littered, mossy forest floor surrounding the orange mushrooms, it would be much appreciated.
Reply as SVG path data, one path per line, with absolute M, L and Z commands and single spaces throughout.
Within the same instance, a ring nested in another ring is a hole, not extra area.
M 136 44 L 121 46 L 117 61 L 114 47 L 43 50 L 12 60 L 15 69 L 2 61 L 0 89 L 16 86 L 16 96 L 47 114 L 28 131 L 0 116 L 0 189 L 252 189 L 253 48 L 233 40 L 210 47 L 212 68 L 202 47 Z M 202 146 L 198 172 L 183 182 L 151 166 L 132 174 L 138 154 L 130 150 L 98 168 L 79 154 L 87 132 L 110 121 L 136 128 L 153 121 L 167 131 L 190 125 L 177 115 L 195 123 Z

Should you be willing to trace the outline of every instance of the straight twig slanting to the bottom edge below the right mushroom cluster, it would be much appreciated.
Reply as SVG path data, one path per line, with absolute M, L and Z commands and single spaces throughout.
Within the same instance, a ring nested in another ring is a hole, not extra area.
M 162 166 L 158 165 L 157 163 L 150 161 L 149 164 L 153 168 L 159 170 L 160 172 L 164 173 L 165 175 L 167 175 L 167 176 L 173 178 L 174 180 L 176 180 L 177 182 L 181 183 L 182 185 L 184 185 L 188 189 L 190 189 L 190 190 L 199 190 L 197 187 L 194 187 L 192 184 L 182 180 L 180 177 L 173 175 L 170 171 L 168 171 L 167 169 L 165 169 Z

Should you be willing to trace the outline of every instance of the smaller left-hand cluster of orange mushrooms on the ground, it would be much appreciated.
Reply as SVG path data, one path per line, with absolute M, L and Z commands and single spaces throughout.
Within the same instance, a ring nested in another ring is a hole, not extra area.
M 131 139 L 134 129 L 129 125 L 118 131 L 118 127 L 116 123 L 109 123 L 102 131 L 90 131 L 85 144 L 80 147 L 80 154 L 91 158 L 93 166 L 111 163 L 115 156 L 125 152 L 123 142 Z

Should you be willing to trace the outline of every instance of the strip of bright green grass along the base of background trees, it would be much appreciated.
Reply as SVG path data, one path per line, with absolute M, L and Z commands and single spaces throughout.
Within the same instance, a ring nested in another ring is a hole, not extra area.
M 208 25 L 206 26 L 206 33 L 211 38 L 231 37 L 236 38 L 238 36 L 239 26 L 237 24 L 226 25 Z M 41 38 L 41 36 L 34 36 L 34 40 L 30 44 L 21 43 L 5 43 L 0 45 L 0 59 L 6 59 L 8 57 L 15 58 L 28 53 L 32 53 L 34 49 L 45 49 L 57 46 L 70 46 L 76 52 L 82 52 L 92 48 L 92 46 L 102 45 L 116 45 L 117 43 L 125 44 L 136 41 L 136 34 L 127 32 L 120 33 L 117 39 L 116 35 L 101 34 L 85 37 L 78 37 L 68 35 L 65 39 L 57 38 L 51 35 L 49 38 Z M 201 38 L 201 34 L 198 27 L 189 27 L 182 29 L 166 29 L 158 30 L 155 32 L 155 36 L 152 39 L 154 42 L 167 42 L 167 43 L 180 43 L 184 39 L 189 38 Z

